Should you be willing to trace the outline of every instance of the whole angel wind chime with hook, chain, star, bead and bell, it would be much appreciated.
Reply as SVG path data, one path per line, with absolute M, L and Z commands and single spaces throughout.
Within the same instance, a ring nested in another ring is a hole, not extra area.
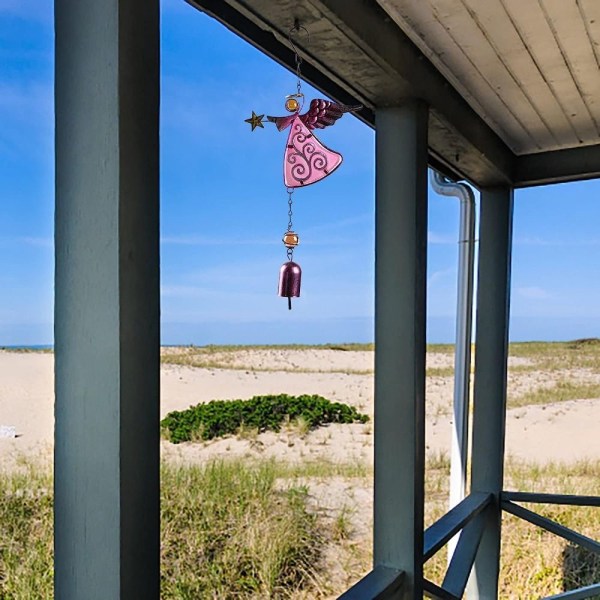
M 267 116 L 269 123 L 274 123 L 278 131 L 289 128 L 285 152 L 283 156 L 283 183 L 288 195 L 288 226 L 283 234 L 283 244 L 287 249 L 287 261 L 279 271 L 279 296 L 288 299 L 288 308 L 292 308 L 292 298 L 300 296 L 300 280 L 302 270 L 294 262 L 294 249 L 300 242 L 298 234 L 292 229 L 292 195 L 296 188 L 306 187 L 331 175 L 341 164 L 342 155 L 323 145 L 313 131 L 325 129 L 333 125 L 347 112 L 360 110 L 362 106 L 344 106 L 330 100 L 314 99 L 308 111 L 300 114 L 304 107 L 304 94 L 300 81 L 300 65 L 302 59 L 292 41 L 292 35 L 308 31 L 297 22 L 290 29 L 288 39 L 296 59 L 296 93 L 285 97 L 285 109 L 291 113 L 284 117 Z M 310 39 L 310 36 L 309 36 Z M 264 129 L 265 115 L 252 116 L 246 119 L 254 131 L 257 127 Z

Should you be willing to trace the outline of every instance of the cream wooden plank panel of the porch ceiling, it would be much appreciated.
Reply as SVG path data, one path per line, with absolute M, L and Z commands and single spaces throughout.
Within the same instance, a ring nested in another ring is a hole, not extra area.
M 597 0 L 379 0 L 516 154 L 600 137 Z

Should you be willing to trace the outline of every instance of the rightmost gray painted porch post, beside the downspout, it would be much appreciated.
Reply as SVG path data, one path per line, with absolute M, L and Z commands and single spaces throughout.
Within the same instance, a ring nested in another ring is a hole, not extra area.
M 469 598 L 498 597 L 513 191 L 481 192 L 471 491 L 491 492 Z

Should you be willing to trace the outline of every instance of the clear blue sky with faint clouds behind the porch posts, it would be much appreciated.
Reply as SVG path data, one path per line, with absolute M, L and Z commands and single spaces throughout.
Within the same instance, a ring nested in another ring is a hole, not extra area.
M 52 341 L 52 2 L 0 0 L 0 345 Z M 298 190 L 302 298 L 285 260 L 286 133 L 294 76 L 183 0 L 162 2 L 163 343 L 371 341 L 374 134 L 345 116 L 320 139 L 344 155 Z M 308 85 L 310 99 L 318 93 Z M 511 339 L 600 336 L 600 182 L 516 192 Z M 430 196 L 428 336 L 454 331 L 458 202 Z

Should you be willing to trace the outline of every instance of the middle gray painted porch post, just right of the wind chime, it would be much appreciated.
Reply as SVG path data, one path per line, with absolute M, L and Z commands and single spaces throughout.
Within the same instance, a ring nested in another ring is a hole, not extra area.
M 374 564 L 422 597 L 426 106 L 376 113 Z

